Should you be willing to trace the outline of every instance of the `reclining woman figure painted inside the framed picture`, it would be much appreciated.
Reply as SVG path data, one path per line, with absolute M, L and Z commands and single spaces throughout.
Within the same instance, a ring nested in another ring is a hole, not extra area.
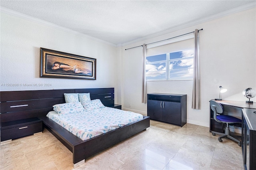
M 58 62 L 58 61 L 53 63 L 53 65 L 52 65 L 53 70 L 60 69 L 60 68 L 64 71 L 74 71 L 75 73 L 82 73 L 82 74 L 85 74 L 85 75 L 92 75 L 92 71 L 90 71 L 88 69 L 85 69 L 85 68 L 82 68 L 79 65 L 70 66 L 68 64 L 61 63 L 61 62 Z

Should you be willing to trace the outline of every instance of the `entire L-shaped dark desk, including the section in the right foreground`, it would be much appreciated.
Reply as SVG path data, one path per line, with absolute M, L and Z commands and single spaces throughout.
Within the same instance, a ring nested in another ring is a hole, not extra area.
M 225 107 L 235 109 L 237 112 L 232 116 L 242 118 L 242 156 L 245 170 L 256 170 L 256 103 L 245 101 L 216 101 L 222 105 L 224 114 Z M 230 109 L 229 108 L 229 109 Z M 210 132 L 224 133 L 224 124 L 213 119 L 213 111 L 210 109 Z

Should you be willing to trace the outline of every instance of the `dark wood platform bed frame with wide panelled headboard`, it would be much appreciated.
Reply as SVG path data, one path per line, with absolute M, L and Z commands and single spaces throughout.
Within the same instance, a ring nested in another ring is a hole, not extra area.
M 91 100 L 100 99 L 105 106 L 114 107 L 114 88 L 1 91 L 1 131 L 4 123 L 38 117 L 43 126 L 73 153 L 76 168 L 86 158 L 150 127 L 149 117 L 143 116 L 141 121 L 83 141 L 46 117 L 53 110 L 53 105 L 65 103 L 63 93 L 90 93 Z

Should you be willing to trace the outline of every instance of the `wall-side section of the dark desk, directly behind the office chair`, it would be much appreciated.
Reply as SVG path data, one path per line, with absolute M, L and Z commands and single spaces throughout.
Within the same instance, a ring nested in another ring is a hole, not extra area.
M 214 99 L 212 99 L 214 100 Z M 224 114 L 228 114 L 237 118 L 242 119 L 242 109 L 256 109 L 256 103 L 246 103 L 245 101 L 228 101 L 228 100 L 220 100 L 216 102 L 220 103 L 223 107 Z M 232 112 L 229 110 L 232 110 Z M 223 123 L 218 123 L 213 119 L 213 111 L 210 108 L 210 132 L 220 132 L 224 133 L 225 125 Z

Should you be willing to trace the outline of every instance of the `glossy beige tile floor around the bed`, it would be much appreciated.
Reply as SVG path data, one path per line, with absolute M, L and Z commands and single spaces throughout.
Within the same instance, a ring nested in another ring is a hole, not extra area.
M 72 153 L 48 130 L 0 145 L 1 170 L 70 170 Z M 86 160 L 76 170 L 242 170 L 242 151 L 209 128 L 150 121 L 142 131 Z

